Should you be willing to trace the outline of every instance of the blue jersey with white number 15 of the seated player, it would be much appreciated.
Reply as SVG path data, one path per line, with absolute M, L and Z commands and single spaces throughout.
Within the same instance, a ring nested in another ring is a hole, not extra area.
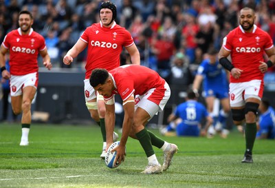
M 202 103 L 190 100 L 177 106 L 175 116 L 182 119 L 176 129 L 178 136 L 199 136 L 199 124 L 208 112 Z

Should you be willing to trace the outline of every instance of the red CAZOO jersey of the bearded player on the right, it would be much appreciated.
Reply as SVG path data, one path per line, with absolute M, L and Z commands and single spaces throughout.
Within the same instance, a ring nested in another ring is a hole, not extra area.
M 241 25 L 232 30 L 223 39 L 223 48 L 230 51 L 232 65 L 243 72 L 239 79 L 234 79 L 230 74 L 230 82 L 239 83 L 254 79 L 263 79 L 263 73 L 259 70 L 259 61 L 263 60 L 265 50 L 273 48 L 272 39 L 267 32 L 257 28 L 250 33 L 245 32 Z

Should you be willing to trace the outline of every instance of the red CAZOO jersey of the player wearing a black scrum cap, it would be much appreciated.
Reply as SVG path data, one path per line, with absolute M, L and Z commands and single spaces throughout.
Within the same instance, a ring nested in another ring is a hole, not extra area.
M 85 79 L 89 79 L 95 68 L 109 71 L 119 67 L 123 47 L 133 45 L 130 32 L 116 23 L 113 23 L 111 28 L 94 23 L 83 32 L 80 40 L 88 44 Z

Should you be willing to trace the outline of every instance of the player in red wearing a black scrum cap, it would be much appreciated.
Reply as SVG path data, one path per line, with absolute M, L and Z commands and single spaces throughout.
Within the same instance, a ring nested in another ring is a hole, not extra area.
M 120 53 L 123 48 L 129 52 L 131 62 L 140 65 L 140 52 L 138 52 L 130 32 L 115 23 L 116 14 L 116 7 L 113 3 L 109 1 L 102 3 L 99 8 L 100 23 L 94 23 L 86 28 L 63 59 L 63 63 L 69 65 L 80 52 L 88 47 L 84 80 L 85 101 L 91 118 L 100 125 L 103 138 L 102 154 L 100 155 L 102 159 L 106 156 L 105 106 L 102 96 L 97 95 L 89 84 L 91 71 L 95 68 L 112 70 L 119 67 Z M 114 136 L 118 136 L 118 134 L 114 133 Z

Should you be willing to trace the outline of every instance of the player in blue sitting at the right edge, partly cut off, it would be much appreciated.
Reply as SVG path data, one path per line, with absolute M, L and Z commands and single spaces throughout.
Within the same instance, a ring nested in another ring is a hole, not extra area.
M 259 122 L 257 123 L 257 139 L 274 139 L 275 138 L 275 112 L 270 106 L 267 98 L 262 98 L 259 106 Z

